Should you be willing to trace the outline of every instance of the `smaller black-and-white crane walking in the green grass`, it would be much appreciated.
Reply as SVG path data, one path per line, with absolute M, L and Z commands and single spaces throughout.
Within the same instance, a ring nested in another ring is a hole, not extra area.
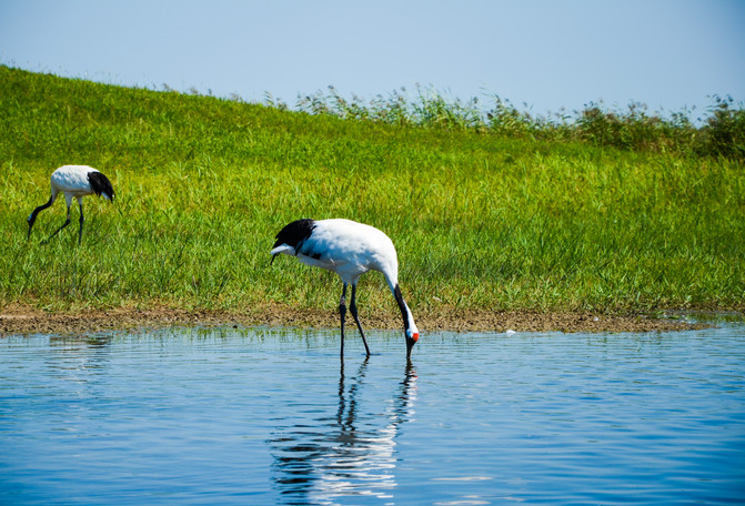
M 29 215 L 29 235 L 27 240 L 31 237 L 31 229 L 33 227 L 33 222 L 37 221 L 37 215 L 52 205 L 54 200 L 57 200 L 57 195 L 62 192 L 64 193 L 64 199 L 68 203 L 68 219 L 62 226 L 57 229 L 57 231 L 47 239 L 47 241 L 70 224 L 70 206 L 72 205 L 72 198 L 75 198 L 78 199 L 78 205 L 80 206 L 80 230 L 78 231 L 78 244 L 80 244 L 83 239 L 83 196 L 95 193 L 97 195 L 103 195 L 113 202 L 114 191 L 113 188 L 111 188 L 111 181 L 92 166 L 63 165 L 52 172 L 50 182 L 52 185 L 52 195 L 49 198 L 49 201 L 34 209 Z

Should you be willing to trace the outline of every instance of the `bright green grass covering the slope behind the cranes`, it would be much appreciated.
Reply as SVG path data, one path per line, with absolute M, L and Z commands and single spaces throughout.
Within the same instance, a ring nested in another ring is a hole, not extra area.
M 0 67 L 0 306 L 333 308 L 338 279 L 281 257 L 298 217 L 349 217 L 394 241 L 414 311 L 742 310 L 745 165 L 340 119 Z M 57 202 L 26 217 L 63 164 L 100 169 L 85 231 Z M 394 307 L 382 276 L 361 308 Z

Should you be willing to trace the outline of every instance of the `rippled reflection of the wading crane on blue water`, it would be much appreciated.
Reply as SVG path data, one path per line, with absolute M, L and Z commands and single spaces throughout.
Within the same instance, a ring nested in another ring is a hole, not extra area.
M 368 405 L 368 360 L 346 377 L 339 376 L 339 406 L 310 422 L 278 427 L 268 442 L 273 479 L 286 504 L 334 504 L 348 496 L 392 497 L 395 439 L 414 415 L 416 373 L 411 363 L 384 406 Z

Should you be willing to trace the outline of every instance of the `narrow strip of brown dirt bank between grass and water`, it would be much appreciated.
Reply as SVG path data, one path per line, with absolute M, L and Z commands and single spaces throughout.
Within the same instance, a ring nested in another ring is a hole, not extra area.
M 360 314 L 366 328 L 401 328 L 400 315 Z M 351 321 L 351 318 L 350 318 Z M 593 313 L 495 312 L 439 310 L 416 315 L 422 336 L 427 332 L 655 332 L 696 328 L 681 320 Z M 188 311 L 171 307 L 82 310 L 47 313 L 28 306 L 0 308 L 0 335 L 92 334 L 109 330 L 167 326 L 253 326 L 336 328 L 339 315 L 326 310 L 261 307 L 246 312 Z

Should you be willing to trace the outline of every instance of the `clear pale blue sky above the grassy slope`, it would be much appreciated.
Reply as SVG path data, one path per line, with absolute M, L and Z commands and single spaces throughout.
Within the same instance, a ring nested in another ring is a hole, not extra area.
M 745 0 L 0 0 L 0 62 L 290 104 L 421 83 L 540 114 L 701 111 L 745 100 Z

